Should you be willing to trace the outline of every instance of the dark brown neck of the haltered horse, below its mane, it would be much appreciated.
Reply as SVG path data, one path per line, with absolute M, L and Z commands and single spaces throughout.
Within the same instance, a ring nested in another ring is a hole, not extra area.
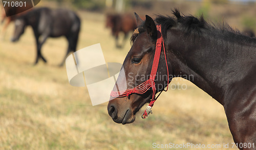
M 246 76 L 244 72 L 256 67 L 256 40 L 247 43 L 239 40 L 236 44 L 225 36 L 183 35 L 178 29 L 167 32 L 166 45 L 168 58 L 172 59 L 169 59 L 172 74 L 190 76 L 191 82 L 224 105 L 232 85 Z M 244 67 L 248 63 L 252 67 Z

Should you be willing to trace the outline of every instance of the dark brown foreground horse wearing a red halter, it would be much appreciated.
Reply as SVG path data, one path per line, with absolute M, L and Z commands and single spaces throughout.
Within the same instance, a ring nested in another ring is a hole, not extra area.
M 256 39 L 226 23 L 208 24 L 203 16 L 183 16 L 178 9 L 173 14 L 158 15 L 156 23 L 135 14 L 138 28 L 111 92 L 109 115 L 116 123 L 132 123 L 150 102 L 146 118 L 155 94 L 174 77 L 183 77 L 223 105 L 238 148 L 255 149 L 243 144 L 256 142 Z

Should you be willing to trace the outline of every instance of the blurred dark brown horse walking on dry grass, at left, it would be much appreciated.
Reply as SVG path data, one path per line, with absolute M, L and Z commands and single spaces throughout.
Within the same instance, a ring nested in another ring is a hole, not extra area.
M 41 47 L 48 37 L 65 36 L 68 40 L 68 50 L 65 58 L 59 66 L 63 66 L 66 57 L 70 52 L 76 51 L 78 35 L 80 31 L 80 18 L 78 15 L 66 9 L 51 10 L 46 7 L 36 8 L 32 11 L 19 16 L 15 20 L 15 31 L 11 41 L 15 42 L 24 33 L 27 26 L 31 26 L 36 39 L 37 56 L 34 65 L 41 58 L 47 60 L 41 54 Z M 40 39 L 39 39 L 40 38 Z

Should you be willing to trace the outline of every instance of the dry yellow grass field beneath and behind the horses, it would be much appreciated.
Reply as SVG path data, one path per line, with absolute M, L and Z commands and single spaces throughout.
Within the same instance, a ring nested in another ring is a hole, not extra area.
M 107 62 L 122 63 L 130 42 L 123 50 L 116 49 L 102 14 L 81 12 L 80 16 L 78 49 L 100 43 Z M 173 80 L 171 84 L 186 84 L 187 89 L 163 93 L 148 119 L 141 119 L 140 111 L 134 123 L 117 124 L 108 115 L 108 103 L 92 106 L 87 88 L 72 87 L 66 68 L 58 67 L 66 53 L 65 38 L 49 38 L 42 47 L 48 63 L 33 66 L 31 28 L 15 44 L 8 40 L 12 32 L 10 26 L 0 42 L 0 149 L 154 149 L 153 143 L 236 149 L 231 148 L 222 105 L 194 84 Z

